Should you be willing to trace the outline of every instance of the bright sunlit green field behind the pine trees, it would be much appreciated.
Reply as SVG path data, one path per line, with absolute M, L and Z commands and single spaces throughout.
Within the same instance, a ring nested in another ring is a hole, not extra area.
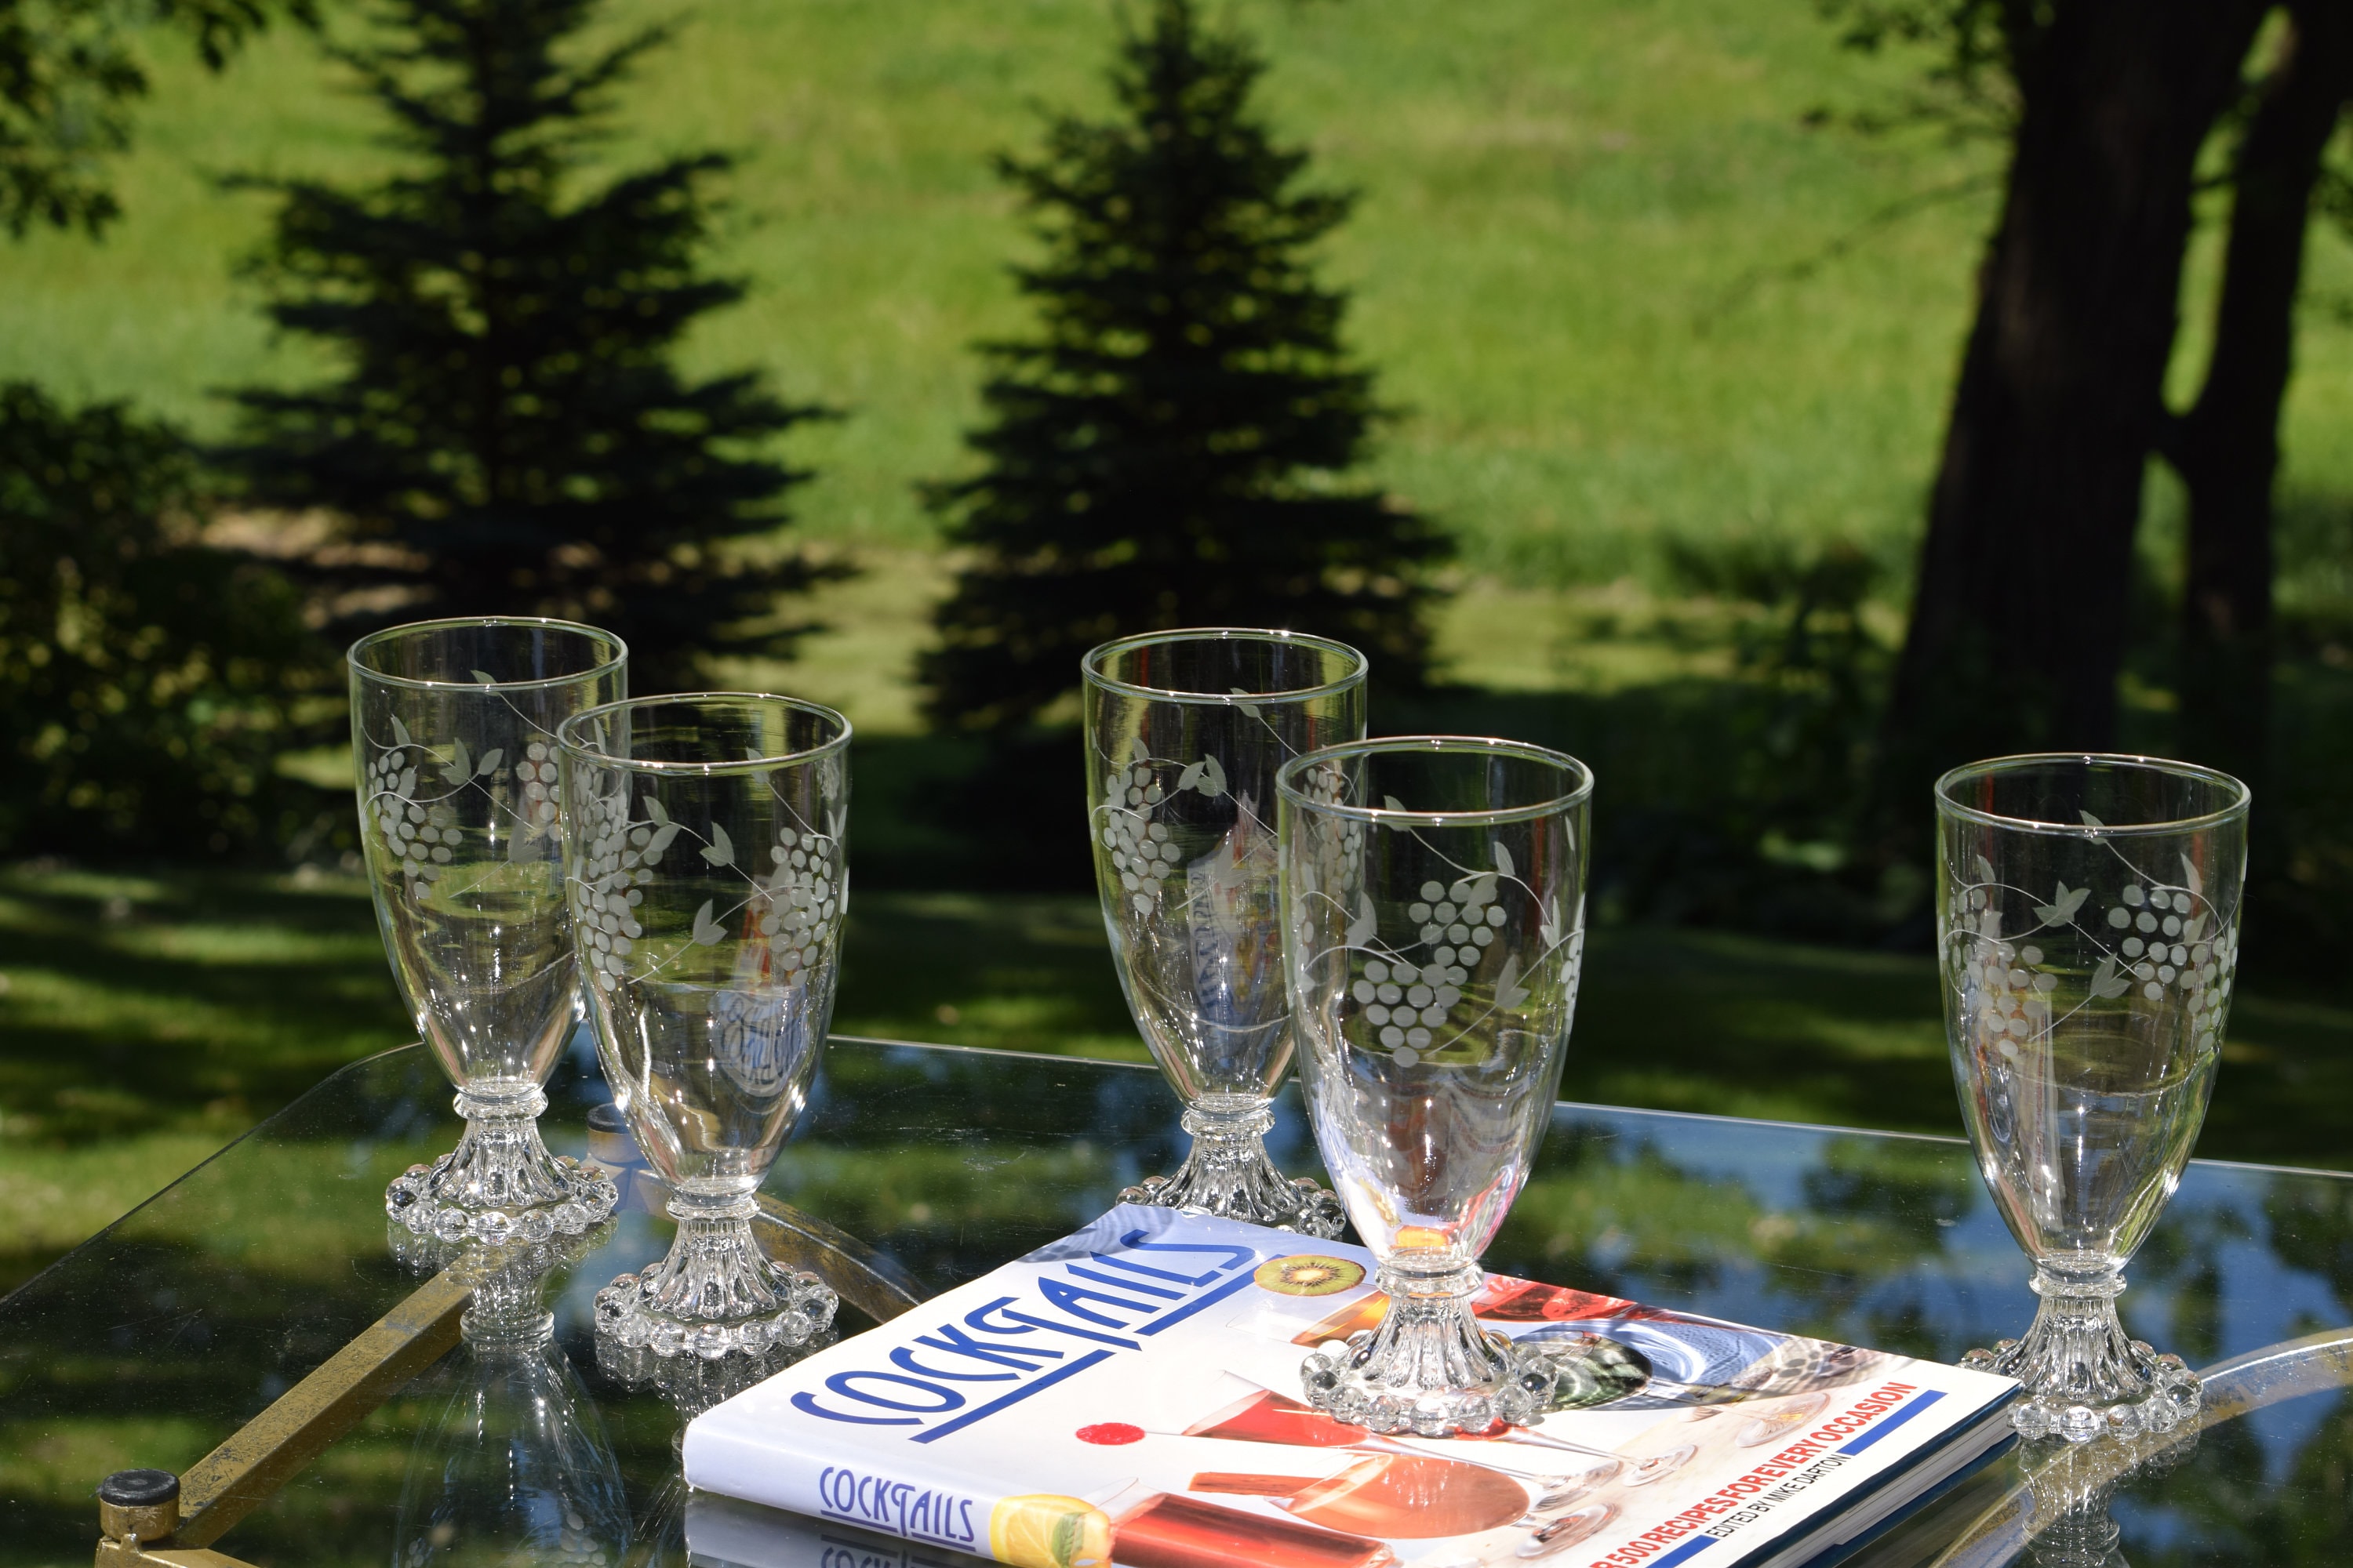
M 1381 475 L 1461 534 L 1475 576 L 1605 583 L 1649 574 L 1666 536 L 1727 531 L 1906 559 L 1991 188 L 1826 254 L 1894 202 L 1993 174 L 1998 150 L 1809 110 L 1885 103 L 1918 59 L 1840 52 L 1809 0 L 1219 9 L 1261 38 L 1278 125 L 1362 193 L 1329 275 L 1402 411 Z M 746 155 L 722 263 L 753 294 L 694 360 L 762 364 L 849 414 L 793 442 L 821 475 L 800 501 L 812 538 L 929 550 L 911 487 L 962 461 L 969 343 L 1024 320 L 1005 263 L 1026 240 L 986 158 L 1035 146 L 1038 106 L 1101 103 L 1111 0 L 612 5 L 614 26 L 649 16 L 685 28 L 628 92 L 616 150 Z M 294 31 L 224 78 L 162 40 L 158 59 L 127 221 L 104 244 L 0 247 L 0 376 L 219 430 L 214 388 L 315 360 L 271 343 L 235 280 L 266 200 L 216 176 L 353 176 L 381 150 Z M 2287 489 L 2341 498 L 2353 247 L 2334 228 L 2315 228 L 2311 292 Z

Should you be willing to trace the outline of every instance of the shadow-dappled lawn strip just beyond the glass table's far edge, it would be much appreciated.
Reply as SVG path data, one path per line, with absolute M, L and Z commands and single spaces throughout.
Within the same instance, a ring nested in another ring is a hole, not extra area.
M 0 1288 L 412 1039 L 339 877 L 0 872 Z M 1092 898 L 861 893 L 835 1030 L 1144 1060 Z M 2242 994 L 2200 1152 L 2353 1168 L 2353 1009 Z M 1927 959 L 1595 936 L 1562 1095 L 1958 1133 Z

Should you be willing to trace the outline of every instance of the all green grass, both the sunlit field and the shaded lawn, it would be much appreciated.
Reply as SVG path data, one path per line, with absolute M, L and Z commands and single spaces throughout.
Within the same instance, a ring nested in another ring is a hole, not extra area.
M 1452 679 L 1541 696 L 1727 672 L 1725 625 L 1694 635 L 1708 607 L 1671 597 L 1671 538 L 1859 541 L 1892 564 L 1873 616 L 1897 630 L 1993 197 L 1831 247 L 1995 158 L 1809 110 L 1882 101 L 1918 61 L 1840 54 L 1812 0 L 1231 14 L 1264 42 L 1271 115 L 1320 179 L 1362 193 L 1329 275 L 1355 289 L 1355 343 L 1400 409 L 1381 477 L 1461 536 L 1438 628 Z M 1026 240 L 986 155 L 1035 146 L 1040 103 L 1101 103 L 1113 5 L 614 0 L 614 26 L 649 16 L 685 31 L 631 89 L 616 150 L 746 155 L 720 261 L 753 294 L 692 357 L 767 367 L 847 411 L 791 444 L 819 470 L 800 527 L 868 567 L 824 595 L 835 630 L 795 665 L 739 675 L 904 736 L 908 663 L 946 583 L 913 484 L 962 463 L 969 343 L 1024 324 L 1005 263 Z M 104 244 L 0 244 L 0 376 L 219 433 L 214 388 L 315 371 L 304 346 L 268 339 L 235 275 L 266 205 L 216 176 L 381 167 L 334 85 L 294 31 L 226 78 L 160 49 L 120 167 L 125 223 Z M 2184 386 L 2209 287 L 2205 244 Z M 2353 244 L 2334 228 L 2315 228 L 2308 289 L 2282 602 L 2353 604 Z M 2177 512 L 2158 487 L 2153 552 Z M 336 879 L 0 875 L 0 1284 L 409 1037 L 365 898 Z M 838 1027 L 1141 1053 L 1082 898 L 861 893 Z M 2259 992 L 2233 1032 L 2205 1152 L 2353 1166 L 2353 1011 Z M 1922 959 L 1687 931 L 1598 933 L 1567 1093 L 1955 1126 Z

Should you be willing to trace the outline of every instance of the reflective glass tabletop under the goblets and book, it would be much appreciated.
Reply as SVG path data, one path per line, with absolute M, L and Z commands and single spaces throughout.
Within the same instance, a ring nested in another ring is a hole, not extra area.
M 548 1095 L 551 1147 L 584 1152 L 605 1088 L 579 1041 Z M 454 1143 L 447 1105 L 414 1046 L 346 1067 L 0 1300 L 0 1563 L 87 1563 L 101 1476 L 188 1467 L 419 1288 L 431 1265 L 393 1255 L 384 1185 Z M 1320 1175 L 1297 1086 L 1271 1145 L 1285 1171 Z M 767 1194 L 871 1246 L 880 1276 L 920 1298 L 1078 1229 L 1181 1152 L 1151 1070 L 835 1039 Z M 595 1291 L 668 1244 L 654 1208 L 626 1194 L 546 1274 L 555 1333 L 532 1366 L 449 1352 L 216 1549 L 459 1561 L 449 1495 L 468 1443 L 506 1420 L 515 1462 L 536 1443 L 534 1462 L 562 1472 L 551 1495 L 576 1493 L 574 1561 L 687 1563 L 689 1547 L 692 1561 L 915 1561 L 685 1493 L 673 1439 L 729 1392 L 725 1366 L 654 1378 L 600 1363 L 588 1331 Z M 2033 1316 L 2026 1262 L 1960 1140 L 1598 1105 L 1555 1110 L 1485 1265 L 1937 1359 Z M 2148 1453 L 2012 1450 L 1849 1561 L 2089 1566 L 2118 1561 L 2111 1530 L 2144 1568 L 2341 1561 L 2353 1178 L 2193 1161 L 2122 1309 L 2134 1335 L 2219 1363 L 2226 1420 Z M 845 1302 L 842 1333 L 868 1324 Z

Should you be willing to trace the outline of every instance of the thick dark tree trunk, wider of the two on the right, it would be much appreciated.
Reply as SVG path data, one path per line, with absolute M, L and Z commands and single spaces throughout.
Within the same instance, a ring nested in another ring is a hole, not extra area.
M 1882 736 L 1906 842 L 1941 766 L 2113 743 L 2191 181 L 2261 12 L 2059 0 L 2012 38 L 2017 146 Z

